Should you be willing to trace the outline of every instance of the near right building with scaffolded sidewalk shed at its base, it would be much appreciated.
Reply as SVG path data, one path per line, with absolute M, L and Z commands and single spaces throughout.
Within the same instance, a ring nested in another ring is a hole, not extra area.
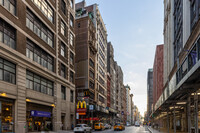
M 154 121 L 162 119 L 174 132 L 199 132 L 199 5 L 164 0 L 164 92 L 154 106 Z

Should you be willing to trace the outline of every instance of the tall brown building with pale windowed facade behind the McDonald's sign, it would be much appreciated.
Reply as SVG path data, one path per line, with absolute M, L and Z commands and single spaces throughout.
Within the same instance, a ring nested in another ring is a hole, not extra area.
M 83 22 L 83 19 L 87 20 Z M 93 26 L 90 28 L 88 25 Z M 77 55 L 81 54 L 76 57 L 77 104 L 79 101 L 85 101 L 86 104 L 94 105 L 94 120 L 106 122 L 106 116 L 109 113 L 107 108 L 107 31 L 97 4 L 86 6 L 85 1 L 76 4 L 76 27 L 76 45 L 79 47 L 76 48 L 76 53 Z M 94 36 L 89 36 L 91 30 L 94 31 Z M 92 62 L 89 60 L 91 51 L 88 46 L 90 43 L 96 51 Z M 93 64 L 93 68 L 90 67 L 90 64 Z M 90 85 L 93 86 L 93 89 L 89 89 Z M 83 93 L 79 95 L 88 89 L 90 91 L 87 95 L 83 95 Z M 94 100 L 91 101 L 92 97 Z M 88 122 L 86 118 L 91 116 L 91 112 L 79 114 L 83 117 L 81 121 L 85 122 Z

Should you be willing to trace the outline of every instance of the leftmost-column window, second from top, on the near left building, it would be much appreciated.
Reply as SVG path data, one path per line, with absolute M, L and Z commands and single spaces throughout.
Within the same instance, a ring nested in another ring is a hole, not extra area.
M 16 30 L 2 19 L 0 19 L 0 42 L 16 49 Z

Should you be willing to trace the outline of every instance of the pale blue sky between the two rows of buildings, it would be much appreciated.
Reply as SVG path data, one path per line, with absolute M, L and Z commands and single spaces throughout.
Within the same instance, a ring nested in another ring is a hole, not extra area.
M 82 0 L 76 0 L 80 2 Z M 153 67 L 156 45 L 163 44 L 163 0 L 86 0 L 97 3 L 122 67 L 124 84 L 131 87 L 141 115 L 147 109 L 147 71 Z

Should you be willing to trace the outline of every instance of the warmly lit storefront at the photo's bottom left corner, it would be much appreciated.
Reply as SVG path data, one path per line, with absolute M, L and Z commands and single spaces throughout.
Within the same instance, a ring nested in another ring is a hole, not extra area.
M 0 98 L 0 133 L 14 133 L 14 100 Z

